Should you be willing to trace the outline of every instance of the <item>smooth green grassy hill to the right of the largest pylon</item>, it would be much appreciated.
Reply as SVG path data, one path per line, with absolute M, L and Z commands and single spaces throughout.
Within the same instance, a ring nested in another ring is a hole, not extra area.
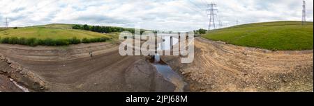
M 301 26 L 301 21 L 244 24 L 212 30 L 202 37 L 273 51 L 312 50 L 313 22 L 307 22 L 306 26 Z

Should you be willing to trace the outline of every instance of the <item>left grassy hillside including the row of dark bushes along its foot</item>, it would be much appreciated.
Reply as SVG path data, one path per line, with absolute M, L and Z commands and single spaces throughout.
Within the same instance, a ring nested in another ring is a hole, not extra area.
M 111 34 L 71 29 L 71 24 L 48 24 L 0 30 L 0 43 L 29 46 L 61 46 L 68 44 L 105 42 Z

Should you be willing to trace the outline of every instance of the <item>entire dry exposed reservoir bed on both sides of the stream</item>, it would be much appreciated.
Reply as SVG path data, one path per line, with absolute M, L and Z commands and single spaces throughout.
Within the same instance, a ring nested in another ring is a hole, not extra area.
M 30 91 L 174 91 L 146 57 L 120 56 L 118 46 L 0 44 L 0 91 L 21 91 L 8 77 Z M 179 59 L 162 56 L 190 91 L 313 91 L 313 50 L 267 51 L 197 37 L 193 63 Z

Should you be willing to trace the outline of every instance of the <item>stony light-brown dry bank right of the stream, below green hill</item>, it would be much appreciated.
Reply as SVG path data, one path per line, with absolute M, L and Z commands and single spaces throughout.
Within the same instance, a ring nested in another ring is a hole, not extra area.
M 163 56 L 190 91 L 313 91 L 313 50 L 267 51 L 195 38 L 195 59 Z

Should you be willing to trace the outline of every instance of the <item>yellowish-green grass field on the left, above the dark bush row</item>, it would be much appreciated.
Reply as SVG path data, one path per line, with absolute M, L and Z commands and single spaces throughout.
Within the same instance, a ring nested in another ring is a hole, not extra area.
M 0 37 L 35 37 L 37 39 L 110 37 L 109 34 L 95 33 L 87 30 L 74 30 L 70 29 L 70 27 L 70 25 L 66 24 L 49 24 L 47 26 L 31 26 L 17 29 L 10 28 L 8 30 L 0 30 Z

